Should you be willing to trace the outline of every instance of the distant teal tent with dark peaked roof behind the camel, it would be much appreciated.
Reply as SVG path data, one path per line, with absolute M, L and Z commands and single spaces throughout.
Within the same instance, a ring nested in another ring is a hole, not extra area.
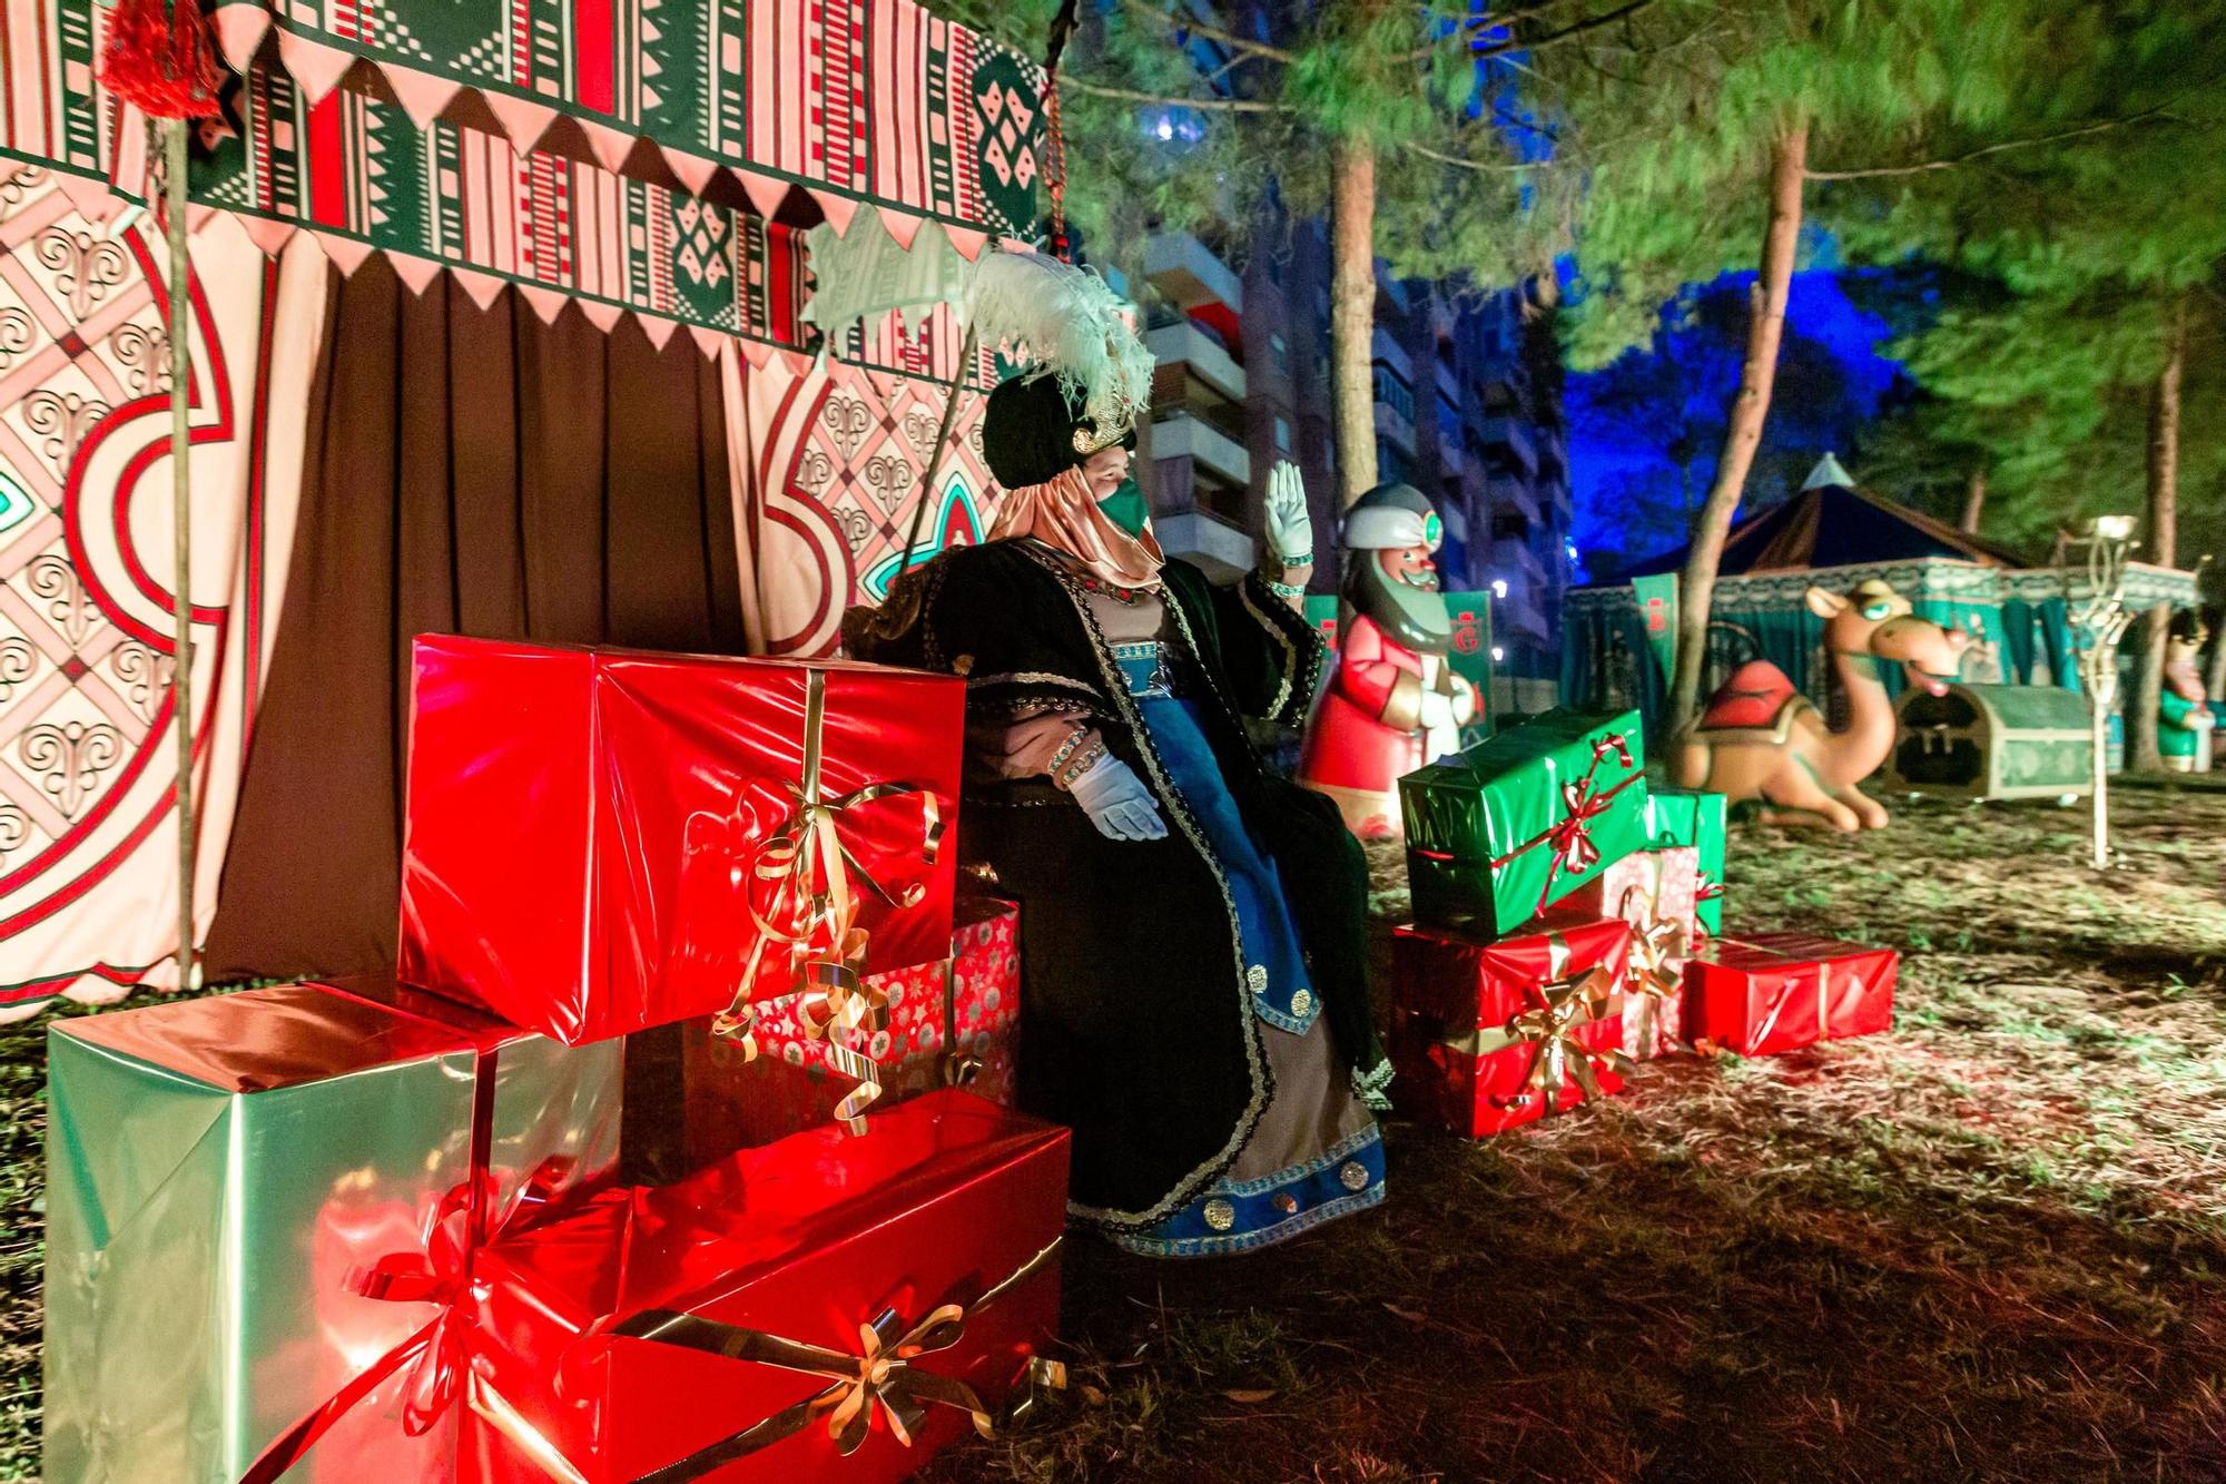
M 1667 682 L 1652 653 L 1672 611 L 1649 593 L 1649 579 L 1683 566 L 1678 548 L 1638 564 L 1625 582 L 1567 595 L 1560 686 L 1572 704 L 1638 706 L 1649 724 L 1661 722 Z M 1823 619 L 1810 613 L 1805 593 L 1845 593 L 1870 579 L 1892 584 L 1917 613 L 1972 637 L 1966 680 L 2079 689 L 2068 599 L 2079 595 L 2084 570 L 2030 566 L 2008 546 L 1863 490 L 1832 455 L 1794 499 L 1732 528 L 1718 570 L 1703 689 L 1721 684 L 1739 662 L 1763 657 L 1828 704 Z M 2126 575 L 2126 604 L 2193 606 L 2195 575 L 2137 562 Z M 1899 691 L 1899 675 L 1885 682 Z

